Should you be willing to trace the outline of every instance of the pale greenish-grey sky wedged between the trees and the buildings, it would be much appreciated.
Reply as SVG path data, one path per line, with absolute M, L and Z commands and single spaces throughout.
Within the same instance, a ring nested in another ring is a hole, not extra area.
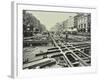
M 69 18 L 69 16 L 75 16 L 76 13 L 70 12 L 50 12 L 50 11 L 27 11 L 35 16 L 42 24 L 45 25 L 47 30 L 50 30 L 55 26 L 56 23 L 61 23 L 62 21 Z

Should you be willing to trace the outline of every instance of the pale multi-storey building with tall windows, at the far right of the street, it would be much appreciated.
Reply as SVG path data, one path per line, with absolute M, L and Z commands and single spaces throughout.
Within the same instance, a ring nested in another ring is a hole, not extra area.
M 91 14 L 83 13 L 74 17 L 74 27 L 78 32 L 90 32 L 91 28 Z

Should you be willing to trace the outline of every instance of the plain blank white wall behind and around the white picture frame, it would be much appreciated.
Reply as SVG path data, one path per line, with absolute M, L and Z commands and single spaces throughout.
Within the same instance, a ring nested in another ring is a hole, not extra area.
M 26 1 L 26 0 L 24 0 Z M 27 0 L 34 4 L 54 4 L 54 5 L 69 5 L 69 6 L 92 6 L 97 7 L 98 26 L 96 29 L 95 46 L 98 58 L 98 68 L 96 73 L 90 74 L 73 74 L 63 76 L 52 76 L 25 80 L 100 80 L 100 1 L 99 0 Z M 1 0 L 0 2 L 0 80 L 12 80 L 10 78 L 11 65 L 11 0 Z M 19 79 L 23 80 L 23 79 Z

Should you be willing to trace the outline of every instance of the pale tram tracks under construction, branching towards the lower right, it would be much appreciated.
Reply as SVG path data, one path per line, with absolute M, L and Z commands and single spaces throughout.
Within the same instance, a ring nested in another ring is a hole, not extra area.
M 84 61 L 80 56 L 78 56 L 77 54 L 75 54 L 74 51 L 78 51 L 79 53 L 81 53 L 81 55 L 85 55 L 89 60 L 91 59 L 91 57 L 87 54 L 85 54 L 84 52 L 82 52 L 79 48 L 76 48 L 74 47 L 73 45 L 71 44 L 67 44 L 67 46 L 71 46 L 71 48 L 73 48 L 74 50 L 71 50 L 70 48 L 68 48 L 65 44 L 62 43 L 62 45 L 65 47 L 65 51 L 63 51 L 63 49 L 61 49 L 61 47 L 58 45 L 58 43 L 55 41 L 54 37 L 52 34 L 50 34 L 50 37 L 54 43 L 54 45 L 60 50 L 60 53 L 63 54 L 64 58 L 65 58 L 65 61 L 66 63 L 68 64 L 69 67 L 73 67 L 74 65 L 72 64 L 72 62 L 69 60 L 70 58 L 68 58 L 68 56 L 66 56 L 66 54 L 68 52 L 71 52 L 71 54 L 77 58 L 77 60 L 79 61 L 79 63 L 81 63 L 81 65 L 83 66 L 89 66 L 89 64 Z

